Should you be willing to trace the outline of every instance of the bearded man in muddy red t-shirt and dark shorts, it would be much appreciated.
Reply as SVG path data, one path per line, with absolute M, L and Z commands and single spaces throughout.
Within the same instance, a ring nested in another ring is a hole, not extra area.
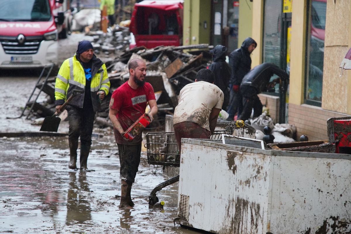
M 129 80 L 112 93 L 109 117 L 114 127 L 114 137 L 118 146 L 121 177 L 121 202 L 119 208 L 132 209 L 132 184 L 138 172 L 142 133 L 132 141 L 122 135 L 141 115 L 145 113 L 147 102 L 151 108 L 147 115 L 151 121 L 157 113 L 155 94 L 150 83 L 145 82 L 146 63 L 132 59 L 128 65 Z

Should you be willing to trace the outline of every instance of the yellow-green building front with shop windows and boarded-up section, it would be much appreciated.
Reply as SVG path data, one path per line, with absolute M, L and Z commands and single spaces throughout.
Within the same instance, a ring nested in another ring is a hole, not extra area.
M 252 68 L 273 62 L 290 74 L 285 122 L 297 127 L 298 136 L 327 139 L 326 120 L 351 114 L 351 73 L 346 70 L 339 77 L 339 65 L 351 47 L 350 5 L 349 0 L 201 0 L 199 6 L 209 8 L 206 15 L 211 16 L 207 19 L 211 25 L 206 40 L 199 42 L 233 50 L 232 45 L 240 46 L 247 36 L 256 40 Z M 239 14 L 234 24 L 228 20 L 231 11 Z M 233 34 L 228 37 L 226 27 L 231 32 L 230 26 L 235 24 L 238 33 L 230 44 Z M 277 87 L 276 93 L 259 95 L 275 122 L 282 108 L 278 92 Z

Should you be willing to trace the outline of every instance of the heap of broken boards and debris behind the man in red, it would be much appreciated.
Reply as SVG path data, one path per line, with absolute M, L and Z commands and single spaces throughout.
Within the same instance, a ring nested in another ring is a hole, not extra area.
M 151 128 L 163 126 L 165 115 L 173 114 L 178 104 L 179 91 L 188 83 L 194 82 L 196 73 L 202 68 L 207 68 L 212 62 L 212 56 L 208 50 L 213 46 L 208 44 L 159 46 L 152 49 L 142 46 L 124 50 L 113 46 L 116 57 L 106 62 L 111 82 L 110 94 L 101 103 L 101 109 L 96 118 L 101 125 L 112 126 L 108 120 L 108 103 L 112 92 L 129 79 L 127 64 L 131 59 L 140 58 L 146 61 L 146 80 L 151 83 L 155 91 L 159 113 Z M 112 52 L 112 47 L 110 48 Z M 197 50 L 184 52 L 190 49 Z

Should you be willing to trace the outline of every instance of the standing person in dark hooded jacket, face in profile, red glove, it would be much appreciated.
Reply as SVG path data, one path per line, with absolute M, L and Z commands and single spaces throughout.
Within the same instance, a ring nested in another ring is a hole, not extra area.
M 230 88 L 230 100 L 228 106 L 229 117 L 227 120 L 232 121 L 234 115 L 238 112 L 240 115 L 243 104 L 243 97 L 239 92 L 239 86 L 241 80 L 251 70 L 251 58 L 250 54 L 256 48 L 257 43 L 252 38 L 246 38 L 241 44 L 241 47 L 234 50 L 229 55 L 229 65 L 232 68 L 232 75 L 230 78 L 229 88 Z

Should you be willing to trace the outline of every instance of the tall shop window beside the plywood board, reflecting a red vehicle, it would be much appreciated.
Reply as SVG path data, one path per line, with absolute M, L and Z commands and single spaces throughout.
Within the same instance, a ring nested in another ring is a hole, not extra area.
M 305 103 L 322 106 L 325 15 L 327 0 L 309 1 Z

